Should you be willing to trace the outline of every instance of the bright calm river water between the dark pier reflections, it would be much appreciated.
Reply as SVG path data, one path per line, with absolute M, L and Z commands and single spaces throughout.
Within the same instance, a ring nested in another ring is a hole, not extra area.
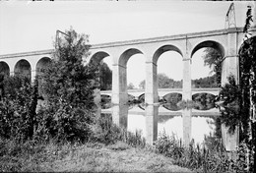
M 213 109 L 214 110 L 214 109 Z M 117 111 L 117 112 L 116 112 Z M 215 110 L 214 110 L 215 111 Z M 213 111 L 213 112 L 214 112 Z M 205 136 L 210 136 L 210 134 L 214 134 L 216 131 L 215 120 L 216 116 L 211 115 L 211 110 L 208 110 L 208 114 L 200 116 L 193 115 L 191 118 L 192 130 L 191 135 L 192 139 L 195 140 L 195 143 L 201 144 L 204 141 Z M 126 124 L 128 131 L 136 132 L 141 131 L 142 136 L 146 135 L 146 111 L 138 106 L 123 106 L 116 108 L 108 108 L 101 109 L 101 113 L 107 113 L 109 116 L 111 114 L 121 114 L 123 119 L 127 122 Z M 181 110 L 179 111 L 170 111 L 166 109 L 164 106 L 154 107 L 154 116 L 158 117 L 158 134 L 162 134 L 163 132 L 169 136 L 174 135 L 176 139 L 182 139 L 183 136 L 183 120 Z

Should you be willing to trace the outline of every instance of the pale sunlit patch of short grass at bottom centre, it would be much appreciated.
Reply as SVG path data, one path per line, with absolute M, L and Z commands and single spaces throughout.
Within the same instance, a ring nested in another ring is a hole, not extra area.
M 59 155 L 59 159 L 54 162 L 44 162 L 41 165 L 43 171 L 191 172 L 173 165 L 170 158 L 121 143 L 108 146 L 82 145 Z

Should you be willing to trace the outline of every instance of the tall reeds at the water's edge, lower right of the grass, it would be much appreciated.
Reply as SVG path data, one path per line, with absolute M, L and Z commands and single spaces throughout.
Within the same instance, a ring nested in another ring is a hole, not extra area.
M 220 143 L 220 141 L 216 141 L 217 146 L 208 144 L 207 148 L 194 144 L 192 141 L 189 147 L 184 147 L 173 136 L 169 137 L 163 133 L 155 147 L 157 152 L 173 158 L 174 164 L 197 172 L 233 172 L 237 170 L 237 166 L 235 167 L 233 161 L 228 159 L 223 144 Z

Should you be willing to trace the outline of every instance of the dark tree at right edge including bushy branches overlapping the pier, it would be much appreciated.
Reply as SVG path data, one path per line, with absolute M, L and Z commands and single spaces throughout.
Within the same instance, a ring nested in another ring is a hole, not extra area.
M 221 91 L 225 116 L 222 121 L 233 131 L 239 126 L 240 143 L 243 152 L 242 159 L 248 160 L 248 172 L 256 170 L 256 36 L 249 36 L 252 22 L 251 8 L 246 13 L 244 27 L 245 41 L 242 43 L 239 55 L 239 85 L 229 78 L 229 84 Z M 223 95 L 223 96 L 222 96 Z M 248 152 L 249 150 L 249 152 Z M 246 152 L 246 153 L 244 153 Z M 248 154 L 247 154 L 248 153 Z M 243 167 L 241 169 L 244 169 Z M 245 170 L 243 170 L 245 171 Z

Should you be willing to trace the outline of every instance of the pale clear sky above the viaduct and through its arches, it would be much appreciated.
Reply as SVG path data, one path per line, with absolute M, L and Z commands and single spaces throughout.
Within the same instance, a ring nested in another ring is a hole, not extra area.
M 90 35 L 90 43 L 149 38 L 180 33 L 224 29 L 231 2 L 209 1 L 0 1 L 0 54 L 52 49 L 56 29 L 72 26 Z M 236 26 L 243 27 L 249 2 L 234 2 Z M 192 62 L 192 79 L 209 76 L 202 49 Z M 104 59 L 111 68 L 110 57 Z M 127 64 L 128 84 L 138 87 L 145 79 L 143 55 Z M 194 69 L 194 70 L 193 70 Z M 181 56 L 165 52 L 158 72 L 181 80 Z

